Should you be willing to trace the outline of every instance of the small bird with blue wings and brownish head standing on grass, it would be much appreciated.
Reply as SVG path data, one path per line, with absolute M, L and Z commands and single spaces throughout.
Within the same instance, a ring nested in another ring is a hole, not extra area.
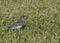
M 21 16 L 19 20 L 13 23 L 11 26 L 5 28 L 5 30 L 21 28 L 25 25 L 26 16 Z

